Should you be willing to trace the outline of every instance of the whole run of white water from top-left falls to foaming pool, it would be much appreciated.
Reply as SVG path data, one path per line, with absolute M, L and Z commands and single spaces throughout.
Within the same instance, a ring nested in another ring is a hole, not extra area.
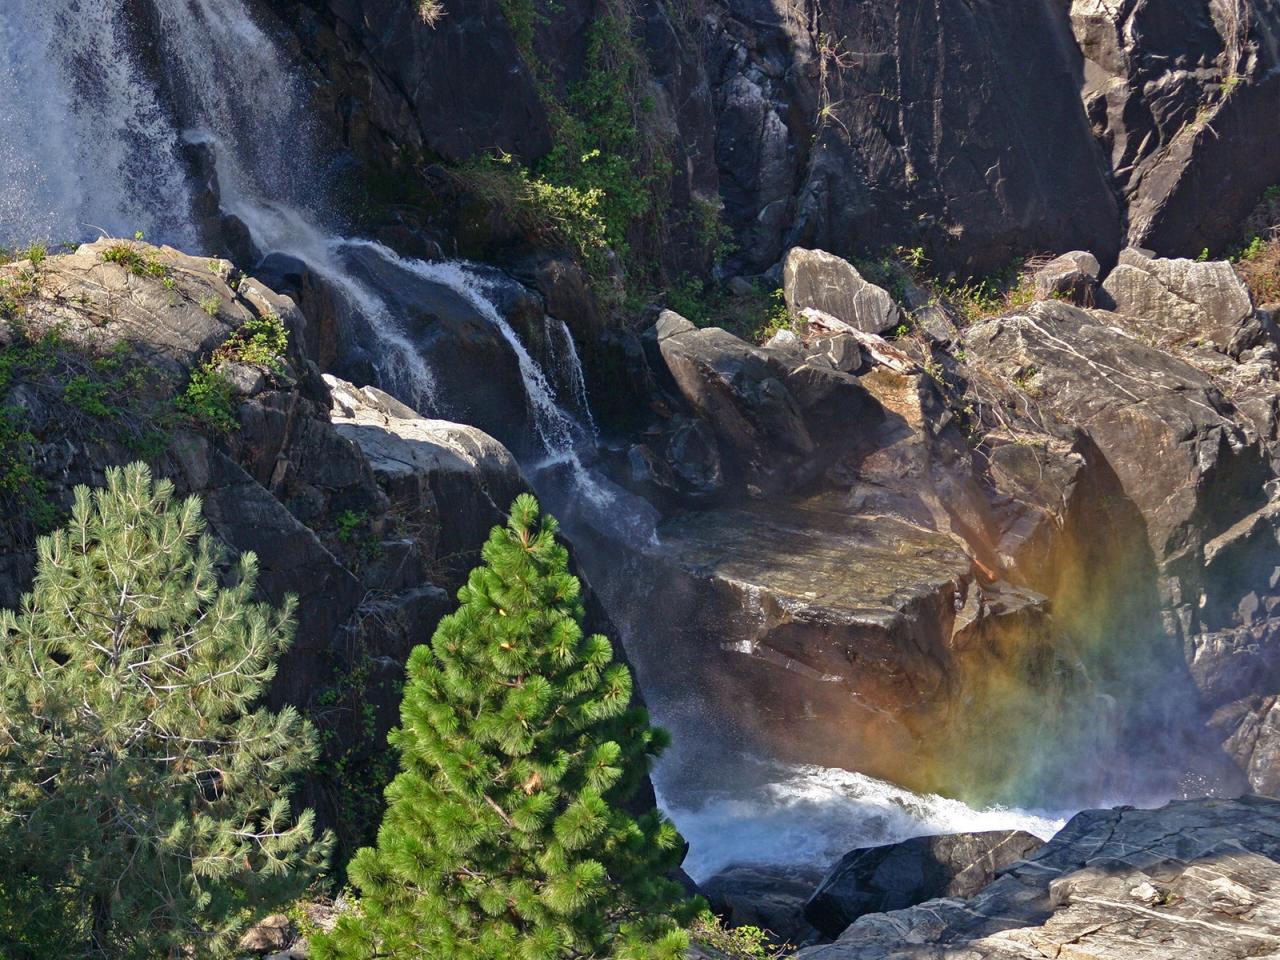
M 612 604 L 625 645 L 640 650 L 648 613 L 625 602 L 634 571 L 618 566 L 620 544 L 641 554 L 654 539 L 654 511 L 590 468 L 596 430 L 567 328 L 545 320 L 544 370 L 498 307 L 492 271 L 411 260 L 346 236 L 324 202 L 325 161 L 303 86 L 244 1 L 150 3 L 163 76 L 140 56 L 140 27 L 118 0 L 0 6 L 0 242 L 143 230 L 196 248 L 209 224 L 197 212 L 189 164 L 202 156 L 216 175 L 218 214 L 243 225 L 259 256 L 292 257 L 323 280 L 339 301 L 344 346 L 369 355 L 380 387 L 433 416 L 449 416 L 457 398 L 442 390 L 443 371 L 390 293 L 430 287 L 467 305 L 518 369 L 536 438 L 526 468 L 572 521 L 568 530 L 604 544 L 584 548 L 580 559 Z M 751 758 L 731 758 L 732 777 L 703 776 L 690 790 L 687 772 L 710 742 L 704 727 L 664 713 L 660 698 L 650 705 L 676 735 L 673 760 L 659 765 L 655 781 L 692 842 L 695 877 L 735 861 L 820 863 L 859 842 L 938 829 L 1055 828 L 1052 818 L 977 812 L 860 774 Z

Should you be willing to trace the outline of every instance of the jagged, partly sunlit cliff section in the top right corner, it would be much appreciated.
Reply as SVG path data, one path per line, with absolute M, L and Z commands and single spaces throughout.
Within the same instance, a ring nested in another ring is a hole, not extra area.
M 1129 211 L 1129 242 L 1196 256 L 1280 179 L 1271 4 L 1074 0 L 1082 96 Z M 1249 163 L 1251 157 L 1263 157 Z M 1206 177 L 1221 178 L 1204 189 Z

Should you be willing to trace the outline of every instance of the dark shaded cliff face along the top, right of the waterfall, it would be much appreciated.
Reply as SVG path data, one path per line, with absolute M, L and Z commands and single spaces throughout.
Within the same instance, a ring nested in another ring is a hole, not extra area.
M 545 155 L 539 91 L 564 96 L 590 24 L 613 9 L 568 0 L 532 17 L 522 47 L 497 3 L 447 0 L 431 24 L 399 0 L 260 4 L 296 32 L 337 137 L 380 169 Z M 671 160 L 668 259 L 684 269 L 695 197 L 723 204 L 731 273 L 764 271 L 792 244 L 920 246 L 980 273 L 1070 248 L 1108 262 L 1126 239 L 1193 256 L 1234 241 L 1280 179 L 1270 3 L 625 12 L 648 61 L 645 136 Z

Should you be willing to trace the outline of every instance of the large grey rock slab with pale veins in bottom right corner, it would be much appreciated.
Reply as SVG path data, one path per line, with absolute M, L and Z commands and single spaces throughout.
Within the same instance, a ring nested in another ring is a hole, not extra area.
M 970 900 L 861 916 L 803 960 L 1270 956 L 1280 803 L 1088 810 Z

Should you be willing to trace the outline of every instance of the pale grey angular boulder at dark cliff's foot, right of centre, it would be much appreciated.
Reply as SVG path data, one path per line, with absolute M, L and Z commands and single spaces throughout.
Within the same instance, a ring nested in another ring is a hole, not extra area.
M 847 260 L 822 250 L 792 247 L 782 268 L 787 310 L 831 314 L 864 333 L 883 333 L 902 323 L 902 310 Z

